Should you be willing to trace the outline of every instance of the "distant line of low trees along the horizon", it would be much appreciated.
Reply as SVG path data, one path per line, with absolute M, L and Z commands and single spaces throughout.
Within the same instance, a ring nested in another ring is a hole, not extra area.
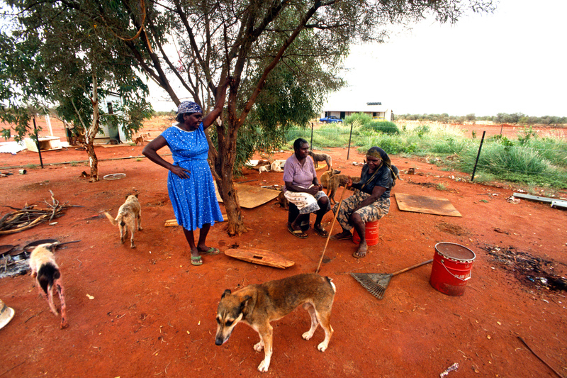
M 395 121 L 434 121 L 441 123 L 464 123 L 474 121 L 493 121 L 494 123 L 520 123 L 524 125 L 565 125 L 567 117 L 544 116 L 534 117 L 527 116 L 524 113 L 498 113 L 496 116 L 475 116 L 467 114 L 466 116 L 449 116 L 447 113 L 442 114 L 397 114 L 394 116 Z

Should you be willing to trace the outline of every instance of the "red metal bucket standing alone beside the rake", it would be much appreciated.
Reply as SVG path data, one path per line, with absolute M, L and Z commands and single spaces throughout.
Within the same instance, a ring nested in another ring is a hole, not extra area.
M 437 243 L 433 257 L 430 284 L 443 294 L 464 294 L 466 282 L 471 279 L 471 269 L 476 255 L 462 245 Z

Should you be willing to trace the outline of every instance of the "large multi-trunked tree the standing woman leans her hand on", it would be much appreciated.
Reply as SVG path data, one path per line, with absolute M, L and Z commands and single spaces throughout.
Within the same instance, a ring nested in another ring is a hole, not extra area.
M 175 104 L 190 97 L 210 109 L 218 83 L 234 78 L 215 143 L 209 139 L 230 235 L 245 230 L 232 185 L 241 130 L 257 130 L 260 121 L 276 130 L 283 118 L 297 116 L 295 107 L 305 102 L 286 96 L 303 96 L 316 109 L 325 90 L 342 84 L 339 67 L 353 42 L 382 42 L 394 24 L 430 16 L 452 23 L 467 11 L 493 10 L 491 0 L 49 1 L 90 18 L 108 47 L 135 60 Z M 297 91 L 278 91 L 279 82 L 295 83 L 289 89 Z

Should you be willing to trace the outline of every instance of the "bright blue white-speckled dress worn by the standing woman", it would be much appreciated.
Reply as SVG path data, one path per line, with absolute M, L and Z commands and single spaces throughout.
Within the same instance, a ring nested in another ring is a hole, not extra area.
M 203 123 L 197 130 L 185 131 L 177 126 L 162 133 L 172 151 L 174 165 L 189 169 L 189 179 L 181 179 L 169 171 L 167 191 L 175 218 L 186 230 L 202 228 L 203 224 L 222 222 L 213 175 L 207 162 L 208 143 Z

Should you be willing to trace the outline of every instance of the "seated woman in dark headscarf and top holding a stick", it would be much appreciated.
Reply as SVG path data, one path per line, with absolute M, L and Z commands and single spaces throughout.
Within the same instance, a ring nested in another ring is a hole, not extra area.
M 354 191 L 352 196 L 342 201 L 337 214 L 337 221 L 342 232 L 331 236 L 331 240 L 344 240 L 352 238 L 350 230 L 354 228 L 360 236 L 359 248 L 353 256 L 361 258 L 366 256 L 366 222 L 378 221 L 390 211 L 390 190 L 398 178 L 398 168 L 392 165 L 390 157 L 379 147 L 372 147 L 366 152 L 366 164 L 362 167 L 360 182 L 348 185 Z M 332 209 L 337 212 L 338 204 Z

